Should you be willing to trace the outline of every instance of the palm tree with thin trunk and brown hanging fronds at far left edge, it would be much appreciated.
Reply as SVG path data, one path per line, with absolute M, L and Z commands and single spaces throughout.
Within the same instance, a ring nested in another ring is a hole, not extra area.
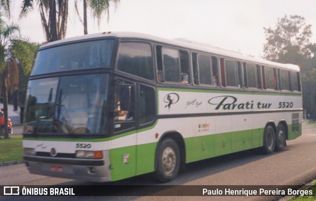
M 10 47 L 12 40 L 16 37 L 15 33 L 19 32 L 17 25 L 7 25 L 0 18 L 0 90 L 2 94 L 3 112 L 4 112 L 4 138 L 9 138 L 8 134 L 8 89 L 18 84 L 18 66 L 11 54 Z

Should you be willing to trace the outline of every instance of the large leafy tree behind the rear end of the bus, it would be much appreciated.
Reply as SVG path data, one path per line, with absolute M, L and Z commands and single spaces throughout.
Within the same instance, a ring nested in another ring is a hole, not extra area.
M 303 108 L 316 119 L 316 44 L 311 43 L 312 25 L 298 15 L 285 15 L 277 20 L 276 28 L 264 28 L 264 57 L 280 63 L 300 66 L 303 88 Z

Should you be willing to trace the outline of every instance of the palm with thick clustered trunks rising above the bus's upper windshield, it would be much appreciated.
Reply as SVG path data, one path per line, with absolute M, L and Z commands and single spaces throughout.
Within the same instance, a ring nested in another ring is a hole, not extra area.
M 68 0 L 23 0 L 20 17 L 33 10 L 36 1 L 40 19 L 48 42 L 64 39 L 67 30 Z

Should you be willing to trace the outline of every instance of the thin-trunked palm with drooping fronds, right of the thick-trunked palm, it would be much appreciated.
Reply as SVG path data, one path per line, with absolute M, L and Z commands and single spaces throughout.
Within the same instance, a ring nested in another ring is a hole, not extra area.
M 119 0 L 82 0 L 83 1 L 83 22 L 79 15 L 78 10 L 78 0 L 75 0 L 75 9 L 77 14 L 79 15 L 79 20 L 83 24 L 83 33 L 88 34 L 88 28 L 87 28 L 87 6 L 91 9 L 92 15 L 94 18 L 97 18 L 98 25 L 100 25 L 102 14 L 108 15 L 108 22 L 110 19 L 110 3 L 112 2 L 115 7 L 117 7 Z

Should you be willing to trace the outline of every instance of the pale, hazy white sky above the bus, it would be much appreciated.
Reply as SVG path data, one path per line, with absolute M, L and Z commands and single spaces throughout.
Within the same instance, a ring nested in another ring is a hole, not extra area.
M 36 7 L 26 18 L 19 19 L 21 2 L 13 0 L 10 21 L 19 24 L 23 37 L 44 42 L 39 10 Z M 73 2 L 69 0 L 66 38 L 83 35 Z M 79 4 L 83 4 L 81 0 Z M 316 0 L 120 0 L 116 8 L 110 7 L 109 22 L 105 15 L 100 26 L 88 13 L 88 33 L 127 31 L 185 38 L 262 57 L 263 28 L 274 29 L 277 19 L 285 15 L 304 17 L 312 25 L 311 42 L 316 42 Z

